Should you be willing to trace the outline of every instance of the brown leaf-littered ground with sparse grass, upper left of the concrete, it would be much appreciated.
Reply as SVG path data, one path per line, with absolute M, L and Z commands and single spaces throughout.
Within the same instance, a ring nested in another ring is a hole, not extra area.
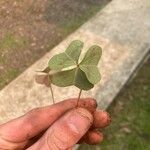
M 0 0 L 0 89 L 110 0 Z

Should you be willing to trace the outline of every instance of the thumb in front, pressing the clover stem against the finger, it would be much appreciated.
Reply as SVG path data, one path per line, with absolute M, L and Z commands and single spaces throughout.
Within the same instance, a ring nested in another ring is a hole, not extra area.
M 88 110 L 84 108 L 70 110 L 56 121 L 31 149 L 70 149 L 88 131 L 92 122 L 93 116 Z

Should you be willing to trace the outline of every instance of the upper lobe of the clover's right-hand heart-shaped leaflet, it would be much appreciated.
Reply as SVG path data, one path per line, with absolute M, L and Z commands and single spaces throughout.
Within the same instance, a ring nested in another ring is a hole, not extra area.
M 86 52 L 81 65 L 97 65 L 102 55 L 102 49 L 98 45 L 93 45 Z

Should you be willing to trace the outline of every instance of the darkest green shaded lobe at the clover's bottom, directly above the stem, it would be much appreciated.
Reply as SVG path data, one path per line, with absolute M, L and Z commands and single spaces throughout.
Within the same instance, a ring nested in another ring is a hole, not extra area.
M 88 81 L 85 73 L 80 68 L 76 70 L 74 85 L 81 90 L 90 90 L 94 87 L 94 85 Z

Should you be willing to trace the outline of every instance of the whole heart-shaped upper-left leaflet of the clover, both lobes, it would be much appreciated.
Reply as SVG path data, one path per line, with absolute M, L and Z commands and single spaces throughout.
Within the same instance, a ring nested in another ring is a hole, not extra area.
M 57 54 L 49 60 L 49 68 L 52 70 L 61 70 L 73 65 L 77 65 L 83 42 L 79 40 L 72 41 L 64 53 Z

